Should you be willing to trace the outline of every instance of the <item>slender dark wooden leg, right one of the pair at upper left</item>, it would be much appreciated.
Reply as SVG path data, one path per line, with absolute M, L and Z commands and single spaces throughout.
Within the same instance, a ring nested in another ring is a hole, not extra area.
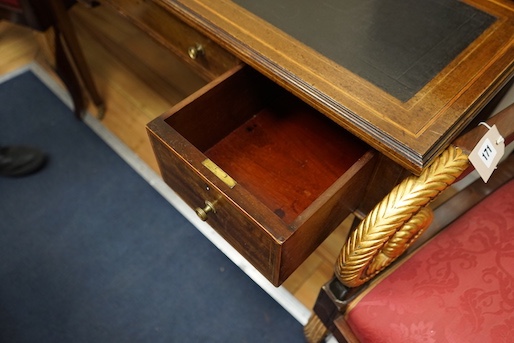
M 86 59 L 84 58 L 79 41 L 73 29 L 70 17 L 68 16 L 68 12 L 60 0 L 50 0 L 49 3 L 51 5 L 52 12 L 55 15 L 55 23 L 59 28 L 58 31 L 60 31 L 60 35 L 62 35 L 62 38 L 66 44 L 67 52 L 73 60 L 74 66 L 79 73 L 80 78 L 89 96 L 91 97 L 91 100 L 98 109 L 98 118 L 101 119 L 105 114 L 105 106 L 96 89 L 91 72 L 86 63 Z

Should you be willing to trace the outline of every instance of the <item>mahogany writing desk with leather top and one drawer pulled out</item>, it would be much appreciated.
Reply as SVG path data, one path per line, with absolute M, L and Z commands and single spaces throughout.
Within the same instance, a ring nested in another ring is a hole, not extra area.
M 104 2 L 212 80 L 150 139 L 164 180 L 275 285 L 514 74 L 509 0 Z

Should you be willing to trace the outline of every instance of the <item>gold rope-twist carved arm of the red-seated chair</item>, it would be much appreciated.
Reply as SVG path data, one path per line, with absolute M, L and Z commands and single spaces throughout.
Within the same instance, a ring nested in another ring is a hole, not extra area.
M 467 167 L 468 156 L 450 146 L 419 177 L 410 176 L 393 188 L 348 238 L 336 263 L 338 279 L 346 286 L 359 286 L 396 259 L 396 254 L 405 251 L 431 220 L 429 213 L 420 210 Z M 412 224 L 421 227 L 411 229 Z M 412 237 L 408 237 L 409 230 Z

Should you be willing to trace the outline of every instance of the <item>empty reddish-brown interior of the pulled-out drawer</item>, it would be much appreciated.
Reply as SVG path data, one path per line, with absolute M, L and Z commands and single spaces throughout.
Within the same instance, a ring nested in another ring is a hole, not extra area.
M 165 119 L 290 225 L 369 148 L 249 67 Z

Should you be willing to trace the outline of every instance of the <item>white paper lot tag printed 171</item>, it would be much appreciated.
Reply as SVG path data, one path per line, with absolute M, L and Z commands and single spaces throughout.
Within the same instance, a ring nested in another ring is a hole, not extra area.
M 484 125 L 487 126 L 486 124 Z M 473 164 L 484 182 L 489 180 L 505 152 L 505 142 L 496 125 L 487 127 L 489 131 L 487 131 L 469 155 L 469 161 Z

